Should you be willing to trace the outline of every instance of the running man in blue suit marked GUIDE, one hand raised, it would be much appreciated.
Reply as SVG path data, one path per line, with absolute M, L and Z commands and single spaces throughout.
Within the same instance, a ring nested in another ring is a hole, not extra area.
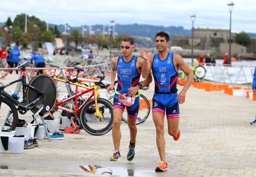
M 156 34 L 156 48 L 159 53 L 152 56 L 148 55 L 147 50 L 146 52 L 140 51 L 141 56 L 148 61 L 148 67 L 143 67 L 142 73 L 148 74 L 152 69 L 155 80 L 152 115 L 156 126 L 156 141 L 161 160 L 160 165 L 156 167 L 156 172 L 168 170 L 165 161 L 164 114 L 166 113 L 167 117 L 168 133 L 177 141 L 181 134 L 179 103 L 185 102 L 186 92 L 193 80 L 193 73 L 184 59 L 177 54 L 168 53 L 169 44 L 169 35 L 160 31 Z M 188 79 L 178 94 L 176 85 L 179 67 L 188 75 Z

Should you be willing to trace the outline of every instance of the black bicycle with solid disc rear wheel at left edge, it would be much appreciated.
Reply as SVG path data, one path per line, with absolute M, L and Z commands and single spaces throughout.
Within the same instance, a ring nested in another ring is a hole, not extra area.
M 14 130 L 18 123 L 18 112 L 22 115 L 29 110 L 34 117 L 43 116 L 51 111 L 57 99 L 57 88 L 53 79 L 47 74 L 35 76 L 29 84 L 26 83 L 26 67 L 28 62 L 17 68 L 21 69 L 21 78 L 6 85 L 0 86 L 0 128 L 1 130 Z M 22 83 L 23 99 L 18 101 L 12 95 L 4 91 L 5 88 L 14 84 Z M 17 106 L 17 108 L 16 108 Z

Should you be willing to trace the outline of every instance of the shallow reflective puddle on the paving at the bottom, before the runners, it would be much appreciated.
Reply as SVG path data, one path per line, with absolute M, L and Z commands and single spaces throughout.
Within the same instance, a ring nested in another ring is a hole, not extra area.
M 121 167 L 101 167 L 99 165 L 84 165 L 79 166 L 83 171 L 94 174 L 108 174 L 108 175 L 120 175 L 120 176 L 140 176 L 149 177 L 155 174 L 155 171 L 149 170 L 132 170 Z

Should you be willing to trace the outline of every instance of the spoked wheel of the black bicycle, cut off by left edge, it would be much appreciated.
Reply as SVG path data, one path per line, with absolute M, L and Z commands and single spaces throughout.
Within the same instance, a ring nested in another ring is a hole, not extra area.
M 18 112 L 15 105 L 6 98 L 2 98 L 0 105 L 1 130 L 15 130 L 18 123 Z

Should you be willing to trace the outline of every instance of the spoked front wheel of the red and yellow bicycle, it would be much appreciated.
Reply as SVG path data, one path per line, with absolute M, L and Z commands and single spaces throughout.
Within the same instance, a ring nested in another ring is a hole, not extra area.
M 113 126 L 113 108 L 105 99 L 98 98 L 99 112 L 103 118 L 96 117 L 95 100 L 88 101 L 81 110 L 80 121 L 83 129 L 91 135 L 104 135 Z

